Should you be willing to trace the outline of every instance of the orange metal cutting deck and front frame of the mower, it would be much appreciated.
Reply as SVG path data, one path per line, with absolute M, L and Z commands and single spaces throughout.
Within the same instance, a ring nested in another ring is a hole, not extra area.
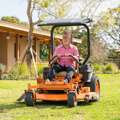
M 56 81 L 56 79 L 54 79 Z M 25 94 L 27 91 L 33 91 L 33 96 L 35 100 L 48 100 L 48 101 L 66 101 L 68 100 L 68 93 L 70 91 L 75 92 L 75 96 L 77 100 L 85 100 L 87 97 L 88 100 L 92 100 L 94 96 L 96 96 L 96 92 L 90 92 L 90 87 L 81 87 L 81 84 L 68 83 L 64 82 L 43 82 L 43 78 L 37 78 L 37 85 L 28 84 L 28 90 L 25 90 Z M 79 86 L 78 86 L 79 85 Z M 81 87 L 81 88 L 80 88 Z M 32 90 L 36 88 L 36 90 Z M 76 91 L 77 88 L 80 88 Z M 54 92 L 51 92 L 54 91 Z M 62 91 L 61 93 L 57 91 Z

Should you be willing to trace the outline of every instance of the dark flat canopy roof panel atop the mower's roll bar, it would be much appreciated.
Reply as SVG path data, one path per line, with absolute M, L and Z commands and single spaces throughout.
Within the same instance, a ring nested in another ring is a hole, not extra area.
M 66 19 L 54 19 L 41 22 L 38 26 L 53 26 L 53 25 L 79 25 L 92 22 L 91 18 L 66 18 Z

